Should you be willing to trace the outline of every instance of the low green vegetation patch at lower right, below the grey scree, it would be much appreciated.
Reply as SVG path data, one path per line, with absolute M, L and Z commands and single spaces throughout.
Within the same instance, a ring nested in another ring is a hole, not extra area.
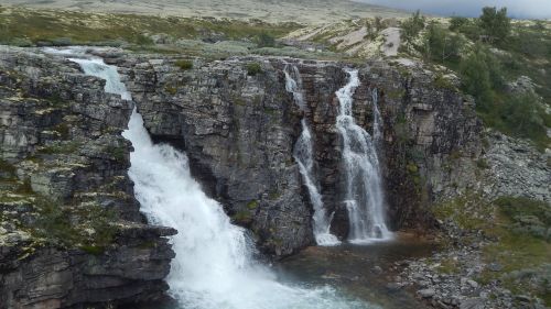
M 467 192 L 434 206 L 433 213 L 495 240 L 484 246 L 483 258 L 498 266 L 485 269 L 476 280 L 500 280 L 514 294 L 531 291 L 551 305 L 551 205 L 522 197 L 500 197 L 487 202 L 479 195 Z M 454 260 L 446 260 L 439 267 L 446 274 L 456 269 Z

